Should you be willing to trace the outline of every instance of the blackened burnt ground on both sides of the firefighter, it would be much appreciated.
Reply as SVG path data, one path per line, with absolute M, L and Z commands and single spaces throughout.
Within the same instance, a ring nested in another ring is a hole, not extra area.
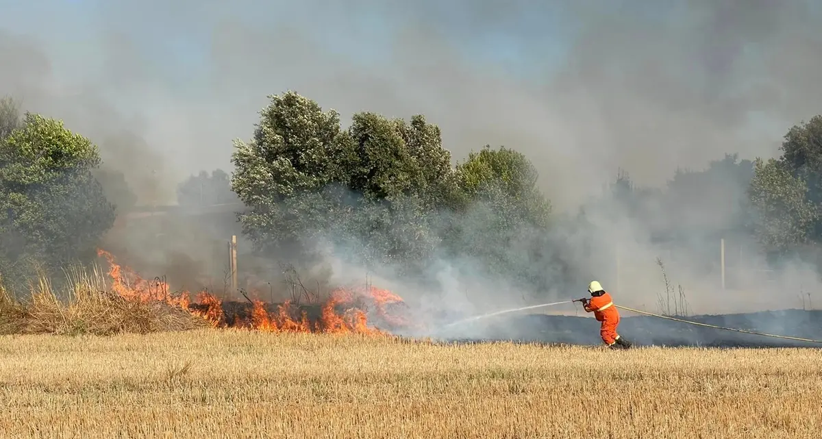
M 785 310 L 680 318 L 766 334 L 822 340 L 822 310 Z M 644 346 L 822 348 L 822 344 L 819 343 L 776 339 L 667 321 L 658 317 L 636 317 L 624 314 L 620 321 L 619 333 L 635 345 Z M 598 345 L 603 343 L 599 338 L 599 322 L 593 318 L 544 314 L 473 321 L 453 326 L 448 330 L 441 330 L 436 338 L 455 342 L 514 340 L 542 344 Z

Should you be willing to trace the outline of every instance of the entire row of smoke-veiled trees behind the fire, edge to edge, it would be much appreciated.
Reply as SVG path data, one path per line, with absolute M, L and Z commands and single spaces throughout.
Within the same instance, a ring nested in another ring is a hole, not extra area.
M 618 173 L 601 196 L 559 215 L 515 148 L 481 146 L 452 166 L 440 128 L 422 115 L 356 113 L 344 128 L 335 111 L 287 92 L 270 96 L 251 138 L 235 142 L 233 173 L 192 175 L 178 202 L 242 202 L 238 220 L 262 254 L 310 260 L 324 243 L 398 275 L 462 261 L 540 289 L 578 275 L 567 255 L 583 252 L 580 239 L 595 247 L 580 235 L 609 216 L 658 240 L 735 233 L 770 255 L 808 254 L 822 241 L 822 116 L 791 127 L 781 153 L 725 155 L 707 169 L 677 170 L 662 188 L 635 187 Z M 0 104 L 0 191 L 5 280 L 90 260 L 118 210 L 135 202 L 92 141 L 12 99 Z

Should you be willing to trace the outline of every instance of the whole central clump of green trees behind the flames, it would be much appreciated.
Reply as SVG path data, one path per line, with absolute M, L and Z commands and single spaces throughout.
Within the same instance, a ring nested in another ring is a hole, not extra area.
M 452 169 L 440 128 L 421 115 L 356 113 L 343 129 L 335 111 L 294 92 L 270 99 L 232 157 L 232 188 L 248 208 L 239 219 L 258 250 L 330 238 L 401 270 L 437 252 L 493 265 L 521 238 L 513 230 L 547 224 L 537 173 L 514 150 L 486 147 Z

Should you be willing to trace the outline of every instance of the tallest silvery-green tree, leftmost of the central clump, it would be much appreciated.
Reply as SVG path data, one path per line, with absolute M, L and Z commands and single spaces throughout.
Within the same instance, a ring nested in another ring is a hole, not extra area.
M 344 206 L 340 183 L 349 180 L 357 162 L 337 112 L 323 112 L 290 91 L 269 98 L 252 140 L 235 141 L 232 155 L 231 188 L 248 208 L 239 220 L 260 251 L 288 247 L 307 230 L 326 229 Z

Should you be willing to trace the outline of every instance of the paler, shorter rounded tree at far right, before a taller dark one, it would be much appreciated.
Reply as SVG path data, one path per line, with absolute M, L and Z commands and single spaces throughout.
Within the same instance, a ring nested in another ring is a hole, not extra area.
M 772 252 L 806 243 L 819 219 L 819 207 L 806 198 L 808 187 L 785 162 L 756 159 L 750 182 L 751 221 L 757 238 Z

